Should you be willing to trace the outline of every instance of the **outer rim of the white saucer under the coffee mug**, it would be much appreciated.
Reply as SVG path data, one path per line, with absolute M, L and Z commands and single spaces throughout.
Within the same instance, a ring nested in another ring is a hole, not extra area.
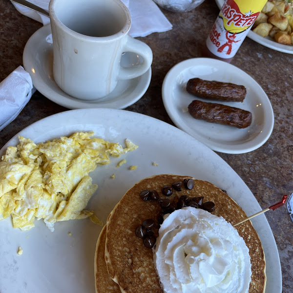
M 36 55 L 32 53 L 31 48 L 35 48 L 34 52 L 38 52 L 38 47 L 34 46 L 35 43 L 42 44 L 43 41 L 43 35 L 47 35 L 51 33 L 51 26 L 50 24 L 44 25 L 41 28 L 39 28 L 37 31 L 33 33 L 33 35 L 28 39 L 26 42 L 24 49 L 23 49 L 23 55 L 22 55 L 22 62 L 24 69 L 30 74 L 32 82 L 34 87 L 47 99 L 51 100 L 52 102 L 61 105 L 63 107 L 66 107 L 68 109 L 80 109 L 80 108 L 92 108 L 92 107 L 99 107 L 99 108 L 115 108 L 115 109 L 124 109 L 130 105 L 133 105 L 138 100 L 142 98 L 142 96 L 146 93 L 146 90 L 149 87 L 150 81 L 151 81 L 151 75 L 152 70 L 151 67 L 144 73 L 143 75 L 134 78 L 133 80 L 137 80 L 137 85 L 133 88 L 133 91 L 131 93 L 133 94 L 133 98 L 129 99 L 128 95 L 124 100 L 117 101 L 103 101 L 103 99 L 98 101 L 85 101 L 85 100 L 79 100 L 74 97 L 71 97 L 70 95 L 63 92 L 58 85 L 56 84 L 56 88 L 58 87 L 60 89 L 60 92 L 63 93 L 60 94 L 55 90 L 55 87 L 51 87 L 46 81 L 39 76 L 39 70 L 37 70 L 38 66 L 35 66 L 35 59 Z M 40 39 L 42 41 L 40 42 Z M 52 49 L 53 50 L 53 49 Z M 45 67 L 45 63 L 42 63 L 43 67 Z M 115 106 L 115 104 L 118 104 Z

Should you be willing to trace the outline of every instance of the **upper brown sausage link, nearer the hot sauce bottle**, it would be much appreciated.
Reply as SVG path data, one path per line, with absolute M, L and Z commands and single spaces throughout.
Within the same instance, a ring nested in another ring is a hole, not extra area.
M 190 79 L 186 89 L 188 93 L 199 98 L 215 101 L 243 102 L 246 95 L 246 88 L 243 85 L 210 82 L 200 78 Z

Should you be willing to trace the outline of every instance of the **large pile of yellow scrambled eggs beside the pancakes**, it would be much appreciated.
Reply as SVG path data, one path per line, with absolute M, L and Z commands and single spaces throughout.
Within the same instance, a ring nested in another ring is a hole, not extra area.
M 30 230 L 35 218 L 54 231 L 56 221 L 84 219 L 85 210 L 97 189 L 88 176 L 97 164 L 109 164 L 109 155 L 138 146 L 126 139 L 126 148 L 94 132 L 77 132 L 36 145 L 19 136 L 20 144 L 9 146 L 0 162 L 0 220 L 12 215 L 14 228 Z

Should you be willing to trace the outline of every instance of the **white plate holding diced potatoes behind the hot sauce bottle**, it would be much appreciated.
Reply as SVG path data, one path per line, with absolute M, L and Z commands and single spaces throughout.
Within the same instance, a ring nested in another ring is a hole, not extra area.
M 215 0 L 215 1 L 217 3 L 217 6 L 219 7 L 219 9 L 222 8 L 222 6 L 225 2 L 225 0 Z M 264 38 L 256 33 L 254 33 L 253 31 L 250 31 L 247 36 L 251 40 L 253 40 L 254 42 L 258 42 L 259 44 L 262 44 L 263 46 L 266 46 L 266 47 L 271 48 L 273 50 L 280 51 L 283 53 L 293 54 L 293 46 L 279 44 L 278 42 L 275 42 L 270 36 Z

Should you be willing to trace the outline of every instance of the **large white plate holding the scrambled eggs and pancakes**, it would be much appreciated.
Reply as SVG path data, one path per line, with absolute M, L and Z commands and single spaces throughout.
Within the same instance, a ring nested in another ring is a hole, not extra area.
M 116 109 L 71 110 L 44 118 L 19 135 L 40 143 L 88 130 L 121 144 L 129 138 L 139 146 L 90 173 L 99 188 L 87 209 L 94 210 L 104 223 L 128 188 L 161 173 L 208 180 L 227 190 L 248 215 L 261 210 L 249 188 L 216 153 L 180 129 L 142 114 Z M 3 146 L 0 155 L 7 146 L 17 144 L 16 135 Z M 116 167 L 124 158 L 126 164 Z M 133 165 L 137 169 L 129 170 Z M 115 179 L 110 178 L 113 173 Z M 57 222 L 54 232 L 42 220 L 35 224 L 31 230 L 21 231 L 12 228 L 10 217 L 0 221 L 0 292 L 94 293 L 94 254 L 102 228 L 89 219 Z M 280 260 L 272 230 L 264 214 L 253 218 L 252 224 L 265 251 L 266 293 L 281 293 Z M 21 256 L 17 254 L 18 247 L 23 250 Z

